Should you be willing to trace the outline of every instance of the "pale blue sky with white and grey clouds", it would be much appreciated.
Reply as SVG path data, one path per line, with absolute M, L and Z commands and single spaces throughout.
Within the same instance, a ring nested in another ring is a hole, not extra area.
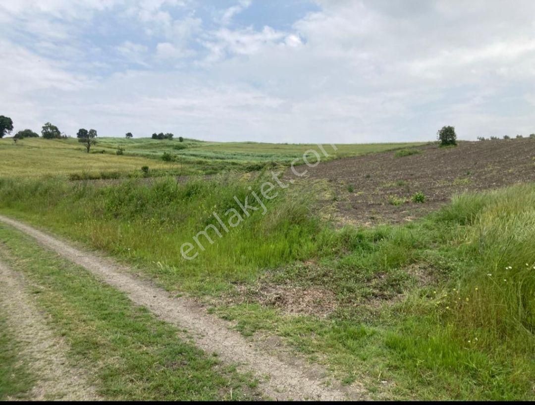
M 525 136 L 533 16 L 533 0 L 2 0 L 0 115 L 71 136 Z

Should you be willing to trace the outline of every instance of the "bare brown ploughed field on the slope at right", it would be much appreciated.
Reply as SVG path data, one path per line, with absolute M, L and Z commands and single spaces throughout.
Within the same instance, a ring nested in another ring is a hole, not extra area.
M 336 198 L 331 198 L 338 200 L 338 219 L 360 225 L 411 221 L 435 211 L 454 194 L 535 181 L 533 139 L 460 142 L 449 148 L 432 144 L 417 149 L 421 153 L 403 157 L 383 152 L 321 162 L 308 168 L 306 177 L 327 179 L 336 192 Z M 286 177 L 292 176 L 288 170 Z M 410 200 L 416 192 L 425 194 L 423 204 Z M 392 197 L 407 202 L 394 206 L 389 202 Z

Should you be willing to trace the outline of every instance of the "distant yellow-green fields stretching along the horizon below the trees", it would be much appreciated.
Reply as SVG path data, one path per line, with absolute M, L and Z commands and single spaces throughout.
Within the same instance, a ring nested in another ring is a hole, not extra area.
M 256 142 L 202 142 L 186 139 L 98 138 L 85 153 L 77 139 L 0 139 L 0 177 L 43 177 L 62 175 L 74 180 L 141 176 L 216 174 L 226 171 L 254 171 L 289 165 L 317 145 L 261 144 Z M 354 144 L 325 148 L 328 159 L 382 152 L 418 144 Z M 122 149 L 122 154 L 117 151 Z M 102 153 L 104 152 L 104 153 Z M 323 159 L 325 160 L 325 159 Z

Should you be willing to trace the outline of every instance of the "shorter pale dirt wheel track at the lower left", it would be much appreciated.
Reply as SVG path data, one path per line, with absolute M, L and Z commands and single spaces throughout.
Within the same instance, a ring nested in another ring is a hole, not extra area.
M 20 355 L 29 360 L 37 382 L 28 393 L 35 401 L 102 400 L 82 370 L 68 364 L 67 344 L 54 336 L 25 288 L 21 274 L 0 262 L 0 306 L 7 325 L 21 343 Z

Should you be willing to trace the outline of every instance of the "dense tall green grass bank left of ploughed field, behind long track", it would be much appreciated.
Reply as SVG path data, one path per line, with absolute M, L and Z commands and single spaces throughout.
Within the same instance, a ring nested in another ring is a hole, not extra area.
M 250 176 L 247 176 L 250 177 Z M 0 205 L 12 212 L 51 226 L 91 247 L 111 251 L 128 259 L 152 263 L 160 277 L 181 289 L 217 289 L 219 283 L 254 277 L 259 268 L 277 267 L 307 257 L 315 250 L 320 224 L 310 215 L 314 190 L 278 190 L 279 196 L 263 198 L 262 209 L 226 234 L 213 213 L 224 213 L 258 190 L 265 177 L 240 179 L 218 176 L 193 179 L 185 184 L 172 178 L 140 184 L 125 181 L 112 186 L 90 182 L 68 184 L 60 180 L 0 181 Z M 251 190 L 249 190 L 251 187 Z M 250 204 L 258 206 L 257 203 Z M 185 260 L 181 245 L 210 224 L 223 237 L 215 243 L 202 239 L 204 251 Z M 180 284 L 178 286 L 177 284 Z

